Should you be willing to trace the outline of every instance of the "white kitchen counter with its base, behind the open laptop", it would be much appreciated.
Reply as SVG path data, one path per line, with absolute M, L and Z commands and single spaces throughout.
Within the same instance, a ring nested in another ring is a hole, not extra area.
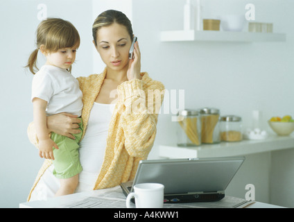
M 243 140 L 179 147 L 176 144 L 159 146 L 162 158 L 195 158 L 245 156 L 226 192 L 244 198 L 246 185 L 255 187 L 255 200 L 294 207 L 294 137 L 270 135 L 266 139 Z

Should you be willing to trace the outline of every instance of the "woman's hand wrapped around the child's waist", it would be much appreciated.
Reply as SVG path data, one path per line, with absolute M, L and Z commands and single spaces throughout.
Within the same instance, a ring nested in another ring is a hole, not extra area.
M 47 117 L 47 128 L 49 132 L 54 132 L 71 139 L 75 139 L 73 134 L 80 133 L 78 123 L 80 123 L 80 119 L 78 119 L 77 115 L 66 112 Z

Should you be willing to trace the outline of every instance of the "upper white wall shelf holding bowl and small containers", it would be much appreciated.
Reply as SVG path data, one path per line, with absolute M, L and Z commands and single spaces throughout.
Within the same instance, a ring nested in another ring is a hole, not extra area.
M 162 31 L 162 42 L 285 42 L 284 33 L 250 33 L 232 31 Z

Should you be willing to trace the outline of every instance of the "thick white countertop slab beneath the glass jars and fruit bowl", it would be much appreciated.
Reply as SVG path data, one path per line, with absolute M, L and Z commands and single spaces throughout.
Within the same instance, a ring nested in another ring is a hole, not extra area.
M 219 144 L 202 144 L 201 146 L 195 147 L 160 145 L 159 157 L 171 159 L 228 157 L 279 151 L 286 148 L 294 148 L 294 137 L 279 137 L 271 135 L 266 139 L 244 139 L 241 142 L 220 142 Z

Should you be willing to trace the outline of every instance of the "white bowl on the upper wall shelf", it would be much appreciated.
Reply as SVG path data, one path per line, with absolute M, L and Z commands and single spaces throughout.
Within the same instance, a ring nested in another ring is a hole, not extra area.
M 223 31 L 242 31 L 244 28 L 244 15 L 221 15 L 219 18 Z

